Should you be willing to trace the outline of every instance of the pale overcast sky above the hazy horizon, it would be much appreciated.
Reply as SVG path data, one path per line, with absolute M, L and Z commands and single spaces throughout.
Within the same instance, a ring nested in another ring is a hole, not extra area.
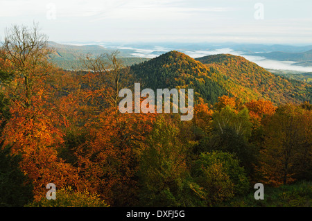
M 312 44 L 311 0 L 0 0 L 0 39 L 39 23 L 55 42 Z

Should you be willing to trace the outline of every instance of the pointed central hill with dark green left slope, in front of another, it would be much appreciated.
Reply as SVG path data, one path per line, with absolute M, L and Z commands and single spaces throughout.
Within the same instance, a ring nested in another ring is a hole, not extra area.
M 141 87 L 154 91 L 158 88 L 193 88 L 195 99 L 201 97 L 211 104 L 220 96 L 231 95 L 204 64 L 177 51 L 135 64 L 131 71 Z

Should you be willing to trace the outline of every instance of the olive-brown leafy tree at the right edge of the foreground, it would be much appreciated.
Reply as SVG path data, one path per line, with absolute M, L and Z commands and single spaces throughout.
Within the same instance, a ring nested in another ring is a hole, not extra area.
M 293 182 L 298 175 L 309 175 L 311 114 L 311 110 L 297 105 L 282 105 L 268 119 L 259 167 L 264 183 L 279 186 Z

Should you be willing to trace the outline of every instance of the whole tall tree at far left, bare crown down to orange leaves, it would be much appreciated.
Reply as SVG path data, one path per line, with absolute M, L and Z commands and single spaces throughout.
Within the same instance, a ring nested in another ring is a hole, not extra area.
M 10 119 L 1 142 L 3 147 L 12 147 L 12 155 L 21 154 L 19 166 L 32 180 L 38 200 L 46 192 L 46 184 L 53 182 L 60 188 L 76 182 L 74 168 L 58 157 L 64 121 L 50 102 L 51 85 L 46 84 L 55 69 L 48 60 L 51 49 L 37 25 L 13 26 L 1 48 L 1 79 L 6 79 L 1 84 L 10 99 Z

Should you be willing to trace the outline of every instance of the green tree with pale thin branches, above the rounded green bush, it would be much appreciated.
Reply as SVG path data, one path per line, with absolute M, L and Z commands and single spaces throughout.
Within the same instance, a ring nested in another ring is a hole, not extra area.
M 234 154 L 250 175 L 253 170 L 252 163 L 256 161 L 257 149 L 248 141 L 252 130 L 248 109 L 235 112 L 228 106 L 224 107 L 214 112 L 212 124 L 214 130 L 200 140 L 198 148 L 206 152 L 219 150 Z

